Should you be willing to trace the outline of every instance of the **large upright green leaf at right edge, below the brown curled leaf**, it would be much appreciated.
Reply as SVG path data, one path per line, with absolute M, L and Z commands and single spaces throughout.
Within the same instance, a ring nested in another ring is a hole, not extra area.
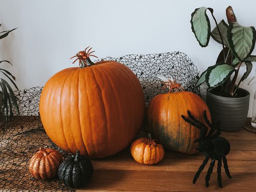
M 256 31 L 254 27 L 244 27 L 238 23 L 230 23 L 228 27 L 228 40 L 230 49 L 239 61 L 245 61 L 252 53 Z

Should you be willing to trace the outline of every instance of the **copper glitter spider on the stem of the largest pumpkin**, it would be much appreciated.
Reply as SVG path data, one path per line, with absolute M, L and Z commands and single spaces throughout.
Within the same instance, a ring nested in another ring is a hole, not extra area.
M 86 50 L 89 48 L 90 46 L 86 47 L 84 49 L 84 51 L 79 51 L 76 55 L 74 55 L 73 57 L 71 57 L 70 59 L 77 57 L 73 63 L 75 63 L 77 60 L 79 60 L 79 65 L 82 65 L 82 67 L 84 67 L 84 65 L 86 66 L 90 66 L 91 64 L 93 64 L 91 62 L 91 60 L 89 59 L 90 56 L 96 57 L 95 55 L 91 55 L 93 52 L 95 51 L 91 51 L 92 47 L 86 52 Z M 91 51 L 91 52 L 90 52 Z M 89 62 L 87 62 L 87 60 L 90 60 Z

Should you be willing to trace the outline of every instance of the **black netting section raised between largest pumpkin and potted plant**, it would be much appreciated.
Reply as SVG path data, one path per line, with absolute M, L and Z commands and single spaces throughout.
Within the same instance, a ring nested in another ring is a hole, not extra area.
M 148 55 L 125 55 L 122 57 L 106 57 L 101 60 L 117 61 L 128 66 L 138 77 L 142 88 L 145 92 L 146 105 L 149 101 L 162 90 L 163 84 L 159 75 L 165 77 L 173 77 L 176 82 L 180 83 L 186 91 L 192 91 L 200 94 L 199 88 L 194 85 L 199 78 L 197 67 L 192 63 L 191 59 L 182 52 L 168 52 L 161 54 Z

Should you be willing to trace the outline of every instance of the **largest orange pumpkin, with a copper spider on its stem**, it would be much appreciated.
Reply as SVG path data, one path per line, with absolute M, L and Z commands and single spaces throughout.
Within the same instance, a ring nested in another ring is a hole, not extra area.
M 94 64 L 88 52 L 76 55 L 80 67 L 64 69 L 46 82 L 39 110 L 57 146 L 101 158 L 123 150 L 137 136 L 145 100 L 128 67 L 115 61 Z

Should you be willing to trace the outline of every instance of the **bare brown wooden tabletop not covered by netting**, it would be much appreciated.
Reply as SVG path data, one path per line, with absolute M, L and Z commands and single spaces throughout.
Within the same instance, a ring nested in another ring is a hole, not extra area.
M 134 161 L 129 149 L 116 155 L 92 160 L 94 173 L 91 182 L 78 191 L 112 192 L 162 192 L 162 191 L 256 191 L 256 133 L 242 129 L 237 132 L 222 132 L 229 140 L 231 151 L 227 155 L 232 179 L 229 179 L 222 167 L 222 184 L 217 183 L 217 164 L 210 178 L 210 186 L 205 186 L 204 178 L 210 165 L 206 165 L 197 183 L 192 179 L 204 156 L 185 155 L 165 151 L 164 159 L 156 165 L 141 165 Z

